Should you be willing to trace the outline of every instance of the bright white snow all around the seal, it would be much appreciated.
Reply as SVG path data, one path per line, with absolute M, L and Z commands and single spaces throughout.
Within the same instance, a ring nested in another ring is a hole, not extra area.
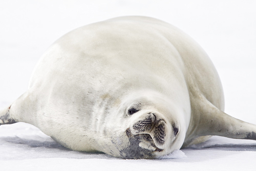
M 162 19 L 193 37 L 220 75 L 225 112 L 256 124 L 256 1 L 3 1 L 0 108 L 26 91 L 40 55 L 57 38 L 124 15 Z M 123 160 L 62 147 L 33 125 L 0 126 L 1 170 L 255 170 L 256 141 L 214 136 L 166 159 Z M 176 158 L 176 159 L 174 159 Z

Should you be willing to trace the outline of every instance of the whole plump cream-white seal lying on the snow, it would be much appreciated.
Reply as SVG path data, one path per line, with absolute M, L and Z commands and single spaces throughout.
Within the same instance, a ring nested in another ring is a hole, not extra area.
M 255 125 L 223 110 L 218 73 L 194 40 L 129 16 L 58 39 L 0 124 L 27 122 L 70 149 L 122 158 L 157 158 L 209 135 L 255 140 Z

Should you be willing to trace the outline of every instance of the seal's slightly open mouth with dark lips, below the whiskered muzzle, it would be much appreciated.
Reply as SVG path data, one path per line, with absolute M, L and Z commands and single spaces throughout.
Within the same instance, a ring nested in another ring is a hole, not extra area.
M 156 152 L 161 152 L 164 149 L 158 148 L 155 145 L 155 142 L 153 140 L 153 138 L 151 137 L 150 134 L 132 134 L 130 128 L 126 129 L 126 135 L 129 137 L 130 142 L 132 141 L 140 141 L 141 142 L 141 146 L 143 146 L 146 149 L 149 149 L 150 151 L 156 151 Z M 133 140 L 132 140 L 133 139 Z

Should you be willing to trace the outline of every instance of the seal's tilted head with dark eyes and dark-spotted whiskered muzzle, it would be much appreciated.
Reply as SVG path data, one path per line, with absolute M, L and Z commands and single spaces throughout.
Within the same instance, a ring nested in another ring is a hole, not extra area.
M 129 95 L 112 117 L 112 127 L 105 127 L 111 144 L 106 142 L 102 151 L 126 159 L 153 159 L 179 149 L 186 133 L 179 112 L 159 93 Z

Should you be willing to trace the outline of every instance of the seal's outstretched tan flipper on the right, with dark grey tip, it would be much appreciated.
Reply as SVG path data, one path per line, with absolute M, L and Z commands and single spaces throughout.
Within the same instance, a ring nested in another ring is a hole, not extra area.
M 194 113 L 191 114 L 190 126 L 183 147 L 195 144 L 203 138 L 202 136 L 207 135 L 256 140 L 256 125 L 222 112 L 200 93 L 196 96 L 193 101 L 196 105 L 191 104 L 191 111 Z

